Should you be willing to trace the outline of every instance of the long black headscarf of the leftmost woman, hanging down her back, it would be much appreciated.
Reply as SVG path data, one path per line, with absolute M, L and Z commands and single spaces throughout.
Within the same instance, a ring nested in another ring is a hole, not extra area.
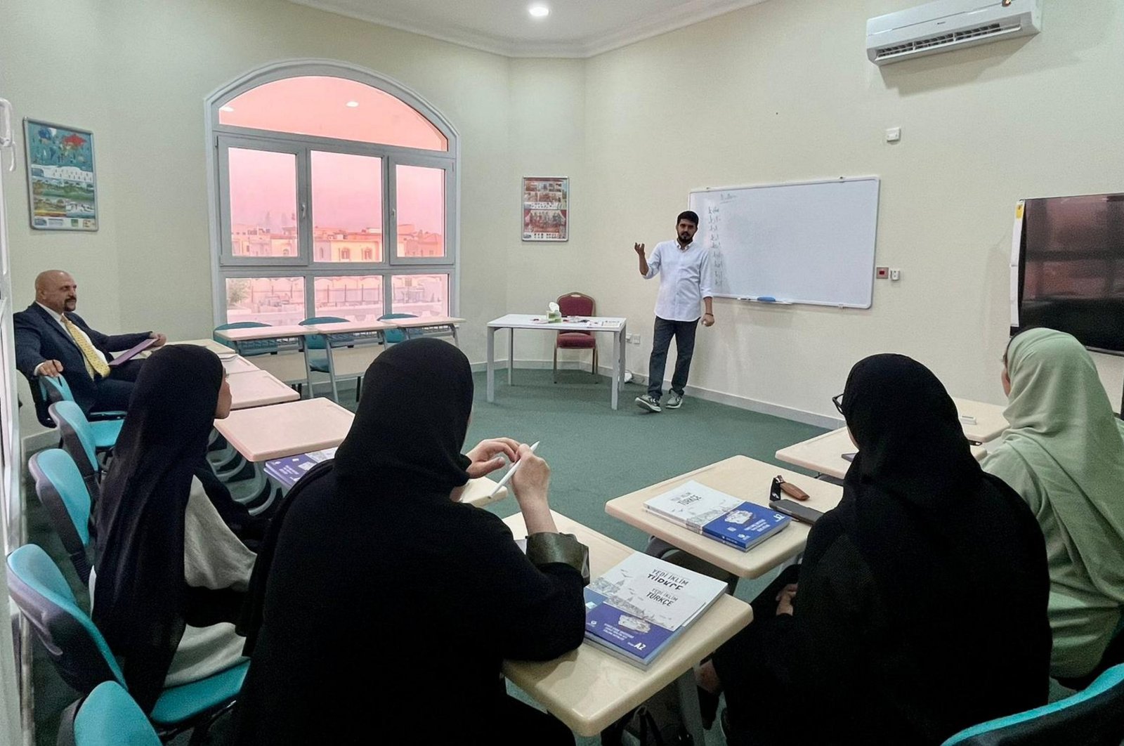
M 142 369 L 94 510 L 93 621 L 124 658 L 129 693 L 149 711 L 185 625 L 184 512 L 206 456 L 223 363 L 190 345 Z

